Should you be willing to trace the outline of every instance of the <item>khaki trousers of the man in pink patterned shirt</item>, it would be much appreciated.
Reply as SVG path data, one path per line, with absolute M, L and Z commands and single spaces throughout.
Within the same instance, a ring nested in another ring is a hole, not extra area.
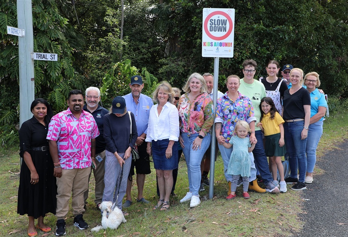
M 57 219 L 64 219 L 69 211 L 69 199 L 72 192 L 71 207 L 76 217 L 84 209 L 84 192 L 88 190 L 90 167 L 84 169 L 62 170 L 62 177 L 57 178 Z

